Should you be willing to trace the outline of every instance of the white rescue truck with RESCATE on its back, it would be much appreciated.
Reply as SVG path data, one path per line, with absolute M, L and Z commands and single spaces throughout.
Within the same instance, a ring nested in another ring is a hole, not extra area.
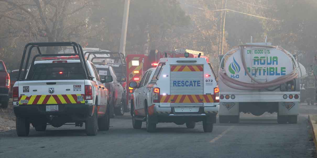
M 196 122 L 203 121 L 204 132 L 211 132 L 216 123 L 219 89 L 205 58 L 161 58 L 139 84 L 130 82 L 130 87 L 134 88 L 130 101 L 135 129 L 141 128 L 142 121 L 148 132 L 155 131 L 159 122 L 195 128 Z

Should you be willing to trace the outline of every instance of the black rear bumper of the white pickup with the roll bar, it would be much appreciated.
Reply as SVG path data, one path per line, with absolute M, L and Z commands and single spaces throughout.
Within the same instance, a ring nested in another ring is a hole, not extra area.
M 58 112 L 46 112 L 46 105 L 20 105 L 13 110 L 17 117 L 34 118 L 47 115 L 81 115 L 92 116 L 95 105 L 91 104 L 58 104 Z

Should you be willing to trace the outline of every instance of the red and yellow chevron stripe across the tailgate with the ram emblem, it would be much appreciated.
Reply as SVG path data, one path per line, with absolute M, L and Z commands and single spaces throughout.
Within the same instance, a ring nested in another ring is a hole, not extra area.
M 77 101 L 77 96 L 82 96 L 82 101 Z M 23 103 L 21 103 L 23 100 Z M 26 103 L 27 102 L 27 103 Z M 22 95 L 19 98 L 19 104 L 39 105 L 39 104 L 83 104 L 85 103 L 85 94 L 57 94 L 57 95 Z

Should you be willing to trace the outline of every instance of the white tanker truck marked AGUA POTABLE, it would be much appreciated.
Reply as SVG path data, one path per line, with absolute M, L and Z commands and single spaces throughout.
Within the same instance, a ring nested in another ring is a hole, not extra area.
M 220 123 L 238 123 L 240 112 L 277 112 L 278 123 L 296 124 L 305 73 L 295 55 L 271 43 L 248 43 L 227 52 L 219 67 Z

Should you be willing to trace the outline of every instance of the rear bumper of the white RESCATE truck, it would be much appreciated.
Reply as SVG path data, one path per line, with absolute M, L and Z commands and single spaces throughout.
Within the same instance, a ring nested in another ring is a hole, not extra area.
M 216 107 L 200 106 L 198 112 L 175 112 L 174 107 L 154 106 L 154 112 L 150 117 L 151 123 L 174 122 L 186 123 L 189 121 L 199 122 L 206 120 L 207 123 L 216 123 L 216 115 L 219 105 Z

